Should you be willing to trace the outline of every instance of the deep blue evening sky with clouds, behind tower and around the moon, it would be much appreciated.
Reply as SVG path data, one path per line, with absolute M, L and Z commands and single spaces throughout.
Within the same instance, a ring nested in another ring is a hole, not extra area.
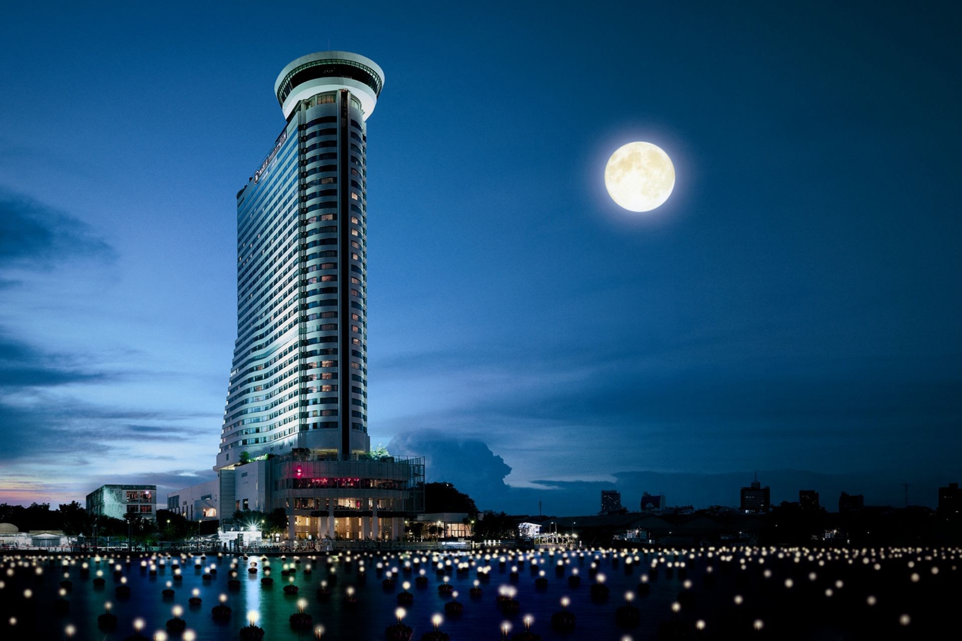
M 0 501 L 213 475 L 235 194 L 326 49 L 387 76 L 372 445 L 515 513 L 962 477 L 958 3 L 195 4 L 4 8 Z

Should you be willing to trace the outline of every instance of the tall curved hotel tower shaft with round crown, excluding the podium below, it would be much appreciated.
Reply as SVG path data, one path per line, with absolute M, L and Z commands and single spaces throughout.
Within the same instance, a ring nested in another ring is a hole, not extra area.
M 238 337 L 217 466 L 293 448 L 369 449 L 367 117 L 384 87 L 364 56 L 281 70 L 287 124 L 238 192 Z

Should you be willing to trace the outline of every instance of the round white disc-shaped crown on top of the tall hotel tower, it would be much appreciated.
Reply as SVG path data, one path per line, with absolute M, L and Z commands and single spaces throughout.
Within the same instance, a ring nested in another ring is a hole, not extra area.
M 346 89 L 361 101 L 364 117 L 374 111 L 384 88 L 384 71 L 369 58 L 348 51 L 319 51 L 301 56 L 277 76 L 274 94 L 289 118 L 301 100 Z

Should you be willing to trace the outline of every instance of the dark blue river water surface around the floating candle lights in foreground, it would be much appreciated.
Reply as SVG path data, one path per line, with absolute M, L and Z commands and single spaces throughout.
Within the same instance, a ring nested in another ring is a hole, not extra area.
M 9 555 L 0 558 L 9 565 Z M 413 584 L 410 591 L 415 597 L 414 603 L 405 606 L 408 614 L 404 623 L 414 628 L 414 638 L 418 639 L 421 633 L 432 628 L 432 615 L 443 613 L 443 605 L 449 601 L 449 597 L 438 593 L 438 585 L 443 582 L 443 576 L 436 574 L 431 565 L 430 554 L 427 555 L 428 561 L 420 566 L 426 569 L 428 577 L 428 586 L 424 588 L 415 585 L 417 566 L 412 568 L 410 573 L 399 573 L 395 584 L 386 589 L 381 583 L 383 575 L 375 570 L 378 558 L 367 557 L 369 576 L 366 580 L 359 579 L 356 561 L 350 567 L 345 567 L 343 559 L 339 558 L 334 568 L 337 581 L 329 585 L 331 598 L 326 603 L 316 599 L 316 588 L 320 581 L 330 578 L 332 574 L 326 567 L 323 556 L 318 556 L 316 560 L 302 557 L 302 562 L 296 566 L 297 572 L 293 581 L 300 588 L 296 595 L 284 593 L 283 587 L 288 583 L 288 577 L 281 576 L 285 561 L 279 557 L 271 557 L 265 563 L 259 557 L 251 557 L 245 561 L 242 557 L 211 556 L 202 561 L 200 568 L 195 568 L 193 560 L 188 559 L 181 566 L 183 579 L 174 582 L 175 597 L 169 600 L 162 599 L 161 591 L 166 581 L 172 580 L 172 565 L 169 562 L 158 565 L 157 576 L 151 577 L 146 568 L 139 567 L 140 558 L 135 557 L 130 564 L 121 561 L 123 574 L 128 578 L 132 591 L 128 600 L 118 600 L 115 597 L 114 589 L 120 582 L 111 572 L 113 564 L 108 565 L 109 557 L 105 557 L 99 564 L 90 561 L 90 575 L 87 578 L 81 577 L 82 561 L 78 559 L 77 563 L 67 570 L 74 584 L 72 591 L 66 595 L 70 611 L 65 616 L 53 615 L 51 608 L 59 596 L 58 582 L 63 577 L 60 561 L 46 563 L 43 566 L 44 575 L 39 580 L 31 574 L 32 568 L 17 568 L 14 577 L 4 577 L 6 585 L 0 593 L 0 609 L 3 610 L 0 638 L 19 638 L 19 635 L 32 631 L 36 638 L 62 639 L 63 628 L 72 624 L 77 628 L 74 639 L 123 639 L 134 631 L 135 618 L 145 620 L 144 633 L 149 637 L 155 630 L 165 629 L 166 620 L 172 616 L 171 608 L 176 604 L 184 608 L 182 618 L 200 640 L 237 639 L 238 630 L 246 625 L 248 610 L 259 613 L 258 625 L 265 628 L 265 638 L 268 640 L 310 639 L 313 638 L 311 631 L 295 632 L 289 625 L 289 617 L 297 611 L 298 599 L 303 598 L 308 603 L 305 611 L 311 614 L 315 625 L 320 624 L 326 628 L 325 639 L 379 639 L 384 636 L 384 628 L 394 623 L 396 594 L 402 590 L 401 583 L 410 580 Z M 239 589 L 230 590 L 227 581 L 230 578 L 231 562 L 235 558 L 238 560 L 237 572 L 241 586 Z M 520 609 L 517 615 L 511 617 L 503 616 L 494 600 L 498 586 L 510 583 L 509 572 L 514 562 L 509 560 L 505 567 L 501 568 L 497 559 L 492 559 L 490 580 L 481 583 L 484 595 L 481 600 L 475 601 L 468 596 L 468 590 L 477 577 L 475 569 L 458 573 L 457 562 L 465 560 L 465 557 L 454 558 L 455 567 L 446 576 L 459 593 L 458 601 L 464 603 L 465 610 L 459 619 L 445 617 L 443 631 L 450 634 L 455 641 L 496 639 L 503 620 L 511 620 L 517 631 L 523 628 L 522 617 L 530 614 L 534 617 L 532 630 L 541 634 L 545 640 L 614 640 L 620 639 L 626 632 L 630 633 L 635 641 L 655 639 L 658 637 L 659 626 L 671 621 L 677 621 L 678 626 L 691 635 L 696 631 L 695 622 L 698 619 L 707 622 L 708 628 L 702 634 L 705 638 L 726 638 L 732 631 L 752 633 L 751 623 L 755 619 L 766 622 L 764 631 L 771 638 L 808 638 L 813 635 L 869 638 L 871 635 L 877 637 L 878 634 L 899 631 L 898 623 L 888 622 L 885 614 L 895 616 L 911 611 L 915 632 L 921 631 L 919 625 L 934 626 L 939 623 L 939 616 L 947 617 L 946 613 L 952 611 L 942 599 L 948 598 L 946 595 L 957 594 L 959 587 L 959 573 L 950 570 L 939 575 L 924 573 L 924 581 L 909 583 L 908 576 L 902 577 L 904 572 L 899 570 L 873 573 L 871 566 L 849 565 L 844 559 L 836 559 L 826 566 L 807 562 L 795 564 L 791 557 L 777 559 L 772 555 L 769 555 L 764 565 L 757 564 L 752 559 L 746 570 L 740 569 L 737 560 L 723 565 L 718 557 L 708 559 L 701 556 L 687 559 L 686 571 L 673 571 L 670 575 L 665 563 L 659 564 L 658 572 L 650 570 L 651 559 L 657 558 L 652 554 L 641 555 L 640 562 L 630 566 L 623 560 L 615 567 L 608 557 L 598 559 L 600 571 L 606 576 L 610 598 L 605 603 L 593 603 L 589 598 L 589 589 L 594 581 L 590 571 L 594 559 L 590 555 L 570 558 L 565 566 L 564 577 L 555 574 L 555 562 L 560 556 L 551 556 L 545 552 L 540 558 L 544 560 L 543 564 L 532 567 L 530 563 L 525 563 L 519 569 L 519 578 L 515 585 L 518 589 Z M 257 561 L 258 572 L 255 575 L 247 572 L 251 560 Z M 292 562 L 291 559 L 288 561 Z M 204 580 L 202 574 L 212 563 L 217 572 L 211 580 Z M 308 563 L 311 563 L 314 570 L 310 575 L 305 572 Z M 479 560 L 479 563 L 483 565 L 485 562 Z M 387 568 L 403 567 L 404 559 L 392 555 L 385 565 Z M 706 581 L 705 568 L 708 565 L 715 570 L 714 585 Z M 270 586 L 262 585 L 261 581 L 267 567 L 274 579 Z M 582 581 L 581 586 L 574 589 L 569 587 L 567 578 L 573 568 L 579 570 Z M 902 568 L 904 565 L 899 564 L 899 569 Z M 96 576 L 98 569 L 104 571 L 106 585 L 103 588 L 95 588 L 91 584 L 91 579 Z M 539 576 L 538 571 L 542 569 L 548 584 L 545 589 L 538 590 L 534 581 Z M 772 571 L 771 578 L 765 577 L 765 570 Z M 809 579 L 808 575 L 813 570 L 819 575 L 818 580 Z M 651 580 L 650 593 L 639 593 L 634 601 L 640 609 L 640 625 L 632 629 L 619 628 L 614 613 L 625 603 L 624 593 L 638 589 L 643 574 L 650 574 Z M 787 577 L 793 578 L 789 582 L 791 588 L 785 587 Z M 691 590 L 685 588 L 686 578 L 691 579 Z M 835 594 L 827 598 L 824 594 L 826 586 L 834 586 L 835 581 L 842 578 L 845 579 L 846 587 L 836 588 Z M 359 603 L 353 608 L 344 605 L 344 593 L 348 586 L 354 586 L 357 591 Z M 29 600 L 22 598 L 22 591 L 27 587 L 34 592 Z M 199 606 L 190 606 L 188 603 L 193 588 L 200 590 L 203 603 Z M 211 608 L 218 603 L 220 594 L 228 595 L 227 604 L 232 608 L 230 622 L 218 623 L 211 617 Z M 743 596 L 742 605 L 734 604 L 735 594 Z M 884 603 L 886 607 L 868 606 L 868 594 L 872 594 L 878 603 Z M 570 634 L 552 630 L 549 623 L 551 614 L 560 609 L 560 599 L 565 596 L 570 597 L 568 609 L 577 616 L 577 628 Z M 97 615 L 104 611 L 104 603 L 108 601 L 114 603 L 112 611 L 118 618 L 118 626 L 116 631 L 105 634 L 97 628 L 96 619 Z M 671 612 L 671 603 L 676 601 L 685 601 L 685 605 L 674 615 Z M 17 616 L 20 621 L 15 628 L 18 636 L 10 635 L 13 628 L 7 626 L 9 616 Z M 30 630 L 29 627 L 36 629 Z

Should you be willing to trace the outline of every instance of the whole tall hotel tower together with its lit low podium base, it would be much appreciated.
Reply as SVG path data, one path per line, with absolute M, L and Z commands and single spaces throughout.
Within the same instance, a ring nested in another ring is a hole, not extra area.
M 422 459 L 368 465 L 366 123 L 383 87 L 380 66 L 344 51 L 298 58 L 274 83 L 287 125 L 237 195 L 238 337 L 215 466 L 221 518 L 232 503 L 285 507 L 291 538 L 295 515 L 298 536 L 335 538 L 336 512 L 349 510 L 367 526 L 339 534 L 382 538 L 379 509 L 383 518 L 417 507 L 399 491 L 423 478 Z

